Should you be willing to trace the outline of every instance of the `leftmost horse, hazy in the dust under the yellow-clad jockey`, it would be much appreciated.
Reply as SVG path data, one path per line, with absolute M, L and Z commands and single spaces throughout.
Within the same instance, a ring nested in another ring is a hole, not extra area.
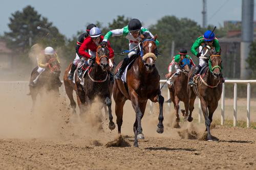
M 50 58 L 48 63 L 49 63 L 49 66 L 46 67 L 45 71 L 41 73 L 40 77 L 36 82 L 36 85 L 34 87 L 29 86 L 30 95 L 33 101 L 32 111 L 34 110 L 34 107 L 35 107 L 37 94 L 38 93 L 41 94 L 44 91 L 44 89 L 47 92 L 53 91 L 57 95 L 59 94 L 58 81 L 59 81 L 59 75 L 60 75 L 60 65 L 55 57 Z M 35 74 L 37 69 L 38 69 L 38 66 L 36 66 L 32 70 L 30 81 L 33 81 L 32 77 L 34 77 L 33 74 Z

